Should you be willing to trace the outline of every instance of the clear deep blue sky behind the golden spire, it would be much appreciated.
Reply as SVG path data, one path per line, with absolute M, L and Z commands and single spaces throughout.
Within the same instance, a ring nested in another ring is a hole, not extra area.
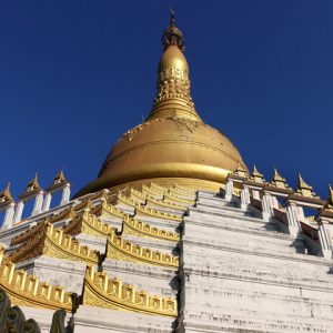
M 192 97 L 245 163 L 333 182 L 333 1 L 1 1 L 0 186 L 64 168 L 73 192 L 155 94 L 169 6 Z

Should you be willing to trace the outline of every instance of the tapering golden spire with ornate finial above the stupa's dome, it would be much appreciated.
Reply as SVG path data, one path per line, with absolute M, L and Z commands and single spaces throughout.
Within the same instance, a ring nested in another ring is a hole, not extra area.
M 190 93 L 189 65 L 184 57 L 185 39 L 170 10 L 170 23 L 162 34 L 163 54 L 158 69 L 158 92 L 147 120 L 185 118 L 202 121 Z

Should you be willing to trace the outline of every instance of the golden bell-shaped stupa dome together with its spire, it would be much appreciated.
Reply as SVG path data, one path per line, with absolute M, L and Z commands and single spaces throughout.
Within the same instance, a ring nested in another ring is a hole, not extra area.
M 184 37 L 175 27 L 174 16 L 162 44 L 158 93 L 149 117 L 120 138 L 98 179 L 77 195 L 105 188 L 140 188 L 149 182 L 218 191 L 238 164 L 248 170 L 233 143 L 195 111 L 183 54 Z

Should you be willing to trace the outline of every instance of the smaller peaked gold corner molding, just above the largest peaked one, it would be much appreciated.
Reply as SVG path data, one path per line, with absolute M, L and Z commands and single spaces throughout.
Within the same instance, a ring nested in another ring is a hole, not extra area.
M 63 232 L 71 235 L 85 233 L 99 238 L 107 238 L 113 231 L 115 231 L 115 229 L 112 225 L 103 223 L 89 211 L 83 211 L 68 225 L 63 226 Z

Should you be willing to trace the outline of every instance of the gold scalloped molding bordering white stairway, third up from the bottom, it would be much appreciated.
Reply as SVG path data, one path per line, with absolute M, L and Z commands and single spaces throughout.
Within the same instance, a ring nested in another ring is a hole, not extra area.
M 138 221 L 133 218 L 130 218 L 129 215 L 124 216 L 123 219 L 123 233 L 138 236 L 155 238 L 173 242 L 180 241 L 180 235 L 178 233 L 151 226 L 149 223 Z

